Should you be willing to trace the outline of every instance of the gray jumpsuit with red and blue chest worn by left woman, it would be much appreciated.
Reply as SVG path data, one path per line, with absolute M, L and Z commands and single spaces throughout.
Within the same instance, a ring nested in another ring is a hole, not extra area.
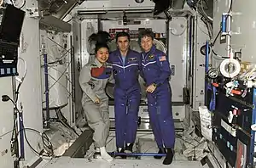
M 102 64 L 97 59 L 84 65 L 80 72 L 79 83 L 83 90 L 82 105 L 88 125 L 94 130 L 93 140 L 96 148 L 106 146 L 109 132 L 108 96 L 105 87 L 112 81 L 112 67 Z M 95 104 L 96 98 L 100 104 Z

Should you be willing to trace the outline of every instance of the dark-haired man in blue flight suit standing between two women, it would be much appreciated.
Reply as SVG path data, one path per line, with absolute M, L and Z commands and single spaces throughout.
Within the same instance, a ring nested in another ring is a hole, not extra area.
M 125 31 L 116 35 L 118 49 L 110 53 L 115 87 L 114 113 L 116 146 L 119 153 L 132 152 L 137 134 L 141 88 L 138 82 L 141 54 L 129 48 L 130 35 Z M 124 156 L 122 158 L 125 158 Z

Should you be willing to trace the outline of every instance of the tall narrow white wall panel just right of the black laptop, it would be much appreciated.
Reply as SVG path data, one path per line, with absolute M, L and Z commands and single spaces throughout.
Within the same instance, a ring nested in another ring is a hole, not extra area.
M 39 26 L 38 20 L 26 17 L 24 20 L 22 34 L 24 42 L 27 43 L 26 52 L 20 53 L 27 64 L 26 78 L 20 87 L 19 102 L 23 105 L 23 117 L 25 127 L 30 127 L 42 132 L 42 92 L 41 92 L 41 64 L 39 53 Z M 20 77 L 23 75 L 24 66 L 19 66 Z M 26 131 L 26 136 L 32 147 L 37 149 L 40 136 L 35 132 Z M 32 149 L 25 143 L 26 162 L 30 162 L 36 156 Z

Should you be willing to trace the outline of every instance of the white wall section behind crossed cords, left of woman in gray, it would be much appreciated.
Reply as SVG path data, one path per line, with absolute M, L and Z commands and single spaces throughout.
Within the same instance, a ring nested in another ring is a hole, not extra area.
M 41 43 L 45 42 L 46 54 L 48 58 L 48 83 L 49 83 L 49 108 L 62 107 L 68 104 L 69 91 L 67 88 L 67 56 L 69 50 L 67 47 L 67 36 L 63 33 L 50 33 L 40 31 Z M 44 38 L 44 40 L 43 40 Z M 44 64 L 44 55 L 41 57 Z M 42 66 L 42 92 L 43 108 L 45 104 L 44 87 L 44 66 Z

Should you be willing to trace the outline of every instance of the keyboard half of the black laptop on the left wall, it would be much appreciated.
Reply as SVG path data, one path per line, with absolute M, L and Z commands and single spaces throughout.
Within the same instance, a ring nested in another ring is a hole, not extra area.
M 0 41 L 0 77 L 18 76 L 18 45 Z

